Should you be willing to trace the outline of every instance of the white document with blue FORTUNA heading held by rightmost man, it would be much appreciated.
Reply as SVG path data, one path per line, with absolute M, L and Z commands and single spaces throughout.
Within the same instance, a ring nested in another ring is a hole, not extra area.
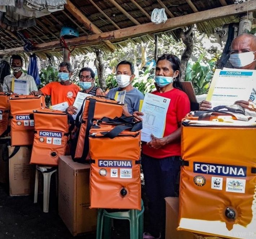
M 212 107 L 233 105 L 238 100 L 249 100 L 256 70 L 216 69 L 206 100 Z

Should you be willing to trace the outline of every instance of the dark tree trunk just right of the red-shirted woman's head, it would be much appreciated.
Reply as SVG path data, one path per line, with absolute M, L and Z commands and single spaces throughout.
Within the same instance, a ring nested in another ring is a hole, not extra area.
M 192 55 L 192 52 L 195 47 L 195 41 L 194 41 L 194 27 L 190 26 L 189 29 L 184 32 L 183 30 L 180 31 L 181 40 L 186 45 L 186 49 L 183 52 L 181 56 L 181 78 L 180 81 L 185 80 L 185 74 L 186 74 L 186 68 L 187 63 Z

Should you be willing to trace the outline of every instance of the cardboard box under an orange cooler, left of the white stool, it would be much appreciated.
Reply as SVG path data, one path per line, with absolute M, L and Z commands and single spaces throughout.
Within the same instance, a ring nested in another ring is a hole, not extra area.
M 8 146 L 10 196 L 32 194 L 36 169 L 35 165 L 30 164 L 31 147 L 20 146 L 17 152 L 14 150 L 15 146 Z

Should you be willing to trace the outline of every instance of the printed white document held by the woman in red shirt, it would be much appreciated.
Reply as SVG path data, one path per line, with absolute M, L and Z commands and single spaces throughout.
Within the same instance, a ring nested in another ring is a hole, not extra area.
M 141 141 L 151 141 L 151 134 L 158 138 L 163 137 L 165 118 L 170 101 L 171 100 L 168 98 L 146 93 L 141 108 L 141 112 L 144 113 L 144 115 L 141 116 L 143 119 Z

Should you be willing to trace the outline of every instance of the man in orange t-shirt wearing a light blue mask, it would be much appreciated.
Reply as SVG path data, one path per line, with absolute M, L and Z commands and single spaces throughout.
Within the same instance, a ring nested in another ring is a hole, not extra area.
M 58 77 L 60 82 L 50 82 L 39 91 L 32 91 L 32 95 L 49 95 L 51 96 L 52 105 L 57 105 L 67 101 L 73 105 L 80 87 L 70 81 L 72 75 L 71 64 L 62 62 L 59 64 Z

